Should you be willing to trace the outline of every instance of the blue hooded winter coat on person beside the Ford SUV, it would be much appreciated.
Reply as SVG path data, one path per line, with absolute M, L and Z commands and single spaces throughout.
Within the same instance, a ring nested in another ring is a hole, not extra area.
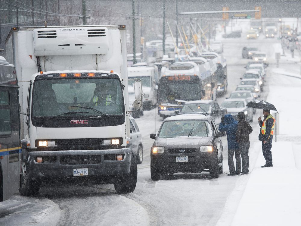
M 228 149 L 238 149 L 238 143 L 236 140 L 238 122 L 234 120 L 232 115 L 225 115 L 224 120 L 219 124 L 219 131 L 226 131 L 228 140 Z

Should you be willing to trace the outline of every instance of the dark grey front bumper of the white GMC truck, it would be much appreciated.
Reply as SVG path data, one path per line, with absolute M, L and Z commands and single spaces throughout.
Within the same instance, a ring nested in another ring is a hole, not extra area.
M 130 171 L 130 148 L 110 150 L 68 150 L 68 151 L 33 151 L 27 152 L 26 163 L 29 178 L 68 178 L 74 176 L 75 169 L 88 169 L 92 177 L 128 174 Z M 116 160 L 123 155 L 123 160 Z M 37 158 L 43 162 L 38 163 Z

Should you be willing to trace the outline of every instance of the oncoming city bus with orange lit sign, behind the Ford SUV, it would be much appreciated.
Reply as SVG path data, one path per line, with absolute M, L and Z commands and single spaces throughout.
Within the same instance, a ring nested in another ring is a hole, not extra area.
M 205 64 L 193 61 L 176 62 L 164 71 L 158 85 L 158 114 L 166 118 L 191 100 L 213 98 L 214 75 L 200 70 Z

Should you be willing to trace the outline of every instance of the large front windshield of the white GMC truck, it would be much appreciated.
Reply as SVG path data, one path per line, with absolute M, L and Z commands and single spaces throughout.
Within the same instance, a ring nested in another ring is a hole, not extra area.
M 125 114 L 118 79 L 40 79 L 34 82 L 32 93 L 32 116 L 37 118 Z

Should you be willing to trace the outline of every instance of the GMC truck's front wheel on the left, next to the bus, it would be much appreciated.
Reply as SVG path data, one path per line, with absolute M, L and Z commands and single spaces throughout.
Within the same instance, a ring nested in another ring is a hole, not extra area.
M 40 183 L 38 180 L 28 178 L 26 171 L 26 164 L 21 164 L 21 175 L 20 175 L 20 188 L 19 192 L 21 196 L 33 196 L 37 195 L 40 190 Z

